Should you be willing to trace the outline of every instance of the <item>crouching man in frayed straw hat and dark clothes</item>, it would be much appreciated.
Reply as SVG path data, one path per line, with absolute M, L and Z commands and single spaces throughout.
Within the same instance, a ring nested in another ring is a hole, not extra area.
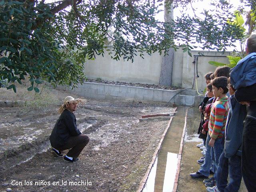
M 60 106 L 58 118 L 50 135 L 50 142 L 53 147 L 51 153 L 55 157 L 63 157 L 62 150 L 68 153 L 64 156 L 67 162 L 78 161 L 79 154 L 89 142 L 89 137 L 82 134 L 76 127 L 76 117 L 73 114 L 79 103 L 84 103 L 83 99 L 74 99 L 68 96 L 64 99 L 64 104 Z

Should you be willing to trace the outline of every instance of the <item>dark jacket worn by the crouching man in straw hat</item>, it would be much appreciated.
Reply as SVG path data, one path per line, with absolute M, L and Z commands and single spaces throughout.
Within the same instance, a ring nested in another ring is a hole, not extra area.
M 82 133 L 76 127 L 75 115 L 69 110 L 65 109 L 62 114 L 60 114 L 60 117 L 52 130 L 50 142 L 52 147 L 58 149 L 58 147 L 66 144 L 66 140 L 70 136 L 77 136 L 80 134 Z

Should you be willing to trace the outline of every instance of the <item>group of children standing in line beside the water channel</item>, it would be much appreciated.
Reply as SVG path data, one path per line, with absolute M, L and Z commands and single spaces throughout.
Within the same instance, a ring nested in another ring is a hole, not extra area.
M 246 52 L 234 68 L 205 75 L 198 129 L 203 143 L 197 145 L 204 157 L 190 176 L 205 178 L 208 192 L 238 192 L 242 177 L 247 190 L 256 192 L 256 34 L 248 38 Z

